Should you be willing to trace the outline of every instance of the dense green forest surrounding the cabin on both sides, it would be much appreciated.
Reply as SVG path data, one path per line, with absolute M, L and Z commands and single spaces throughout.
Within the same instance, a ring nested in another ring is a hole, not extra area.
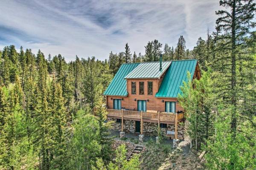
M 256 4 L 220 6 L 216 29 L 206 28 L 207 38 L 198 37 L 193 49 L 183 35 L 175 45 L 149 41 L 143 52 L 124 42 L 104 61 L 0 49 L 0 169 L 139 170 L 139 156 L 126 161 L 125 146 L 111 147 L 102 94 L 122 63 L 159 61 L 163 54 L 164 61 L 198 59 L 201 79 L 183 83 L 179 102 L 190 148 L 205 151 L 205 169 L 255 170 Z

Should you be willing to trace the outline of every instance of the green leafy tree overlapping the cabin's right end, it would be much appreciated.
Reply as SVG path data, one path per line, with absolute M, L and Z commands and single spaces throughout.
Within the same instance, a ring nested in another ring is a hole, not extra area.
M 182 94 L 179 94 L 179 102 L 185 110 L 186 133 L 197 149 L 201 142 L 213 135 L 215 116 L 211 111 L 213 94 L 210 71 L 203 71 L 201 79 L 193 82 L 188 73 L 187 79 L 188 82 L 183 82 L 183 87 L 180 87 Z

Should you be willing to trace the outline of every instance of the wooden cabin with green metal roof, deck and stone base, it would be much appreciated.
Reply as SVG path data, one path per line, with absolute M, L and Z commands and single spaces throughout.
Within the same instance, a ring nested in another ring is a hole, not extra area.
M 126 133 L 157 136 L 158 129 L 170 139 L 183 139 L 184 109 L 177 101 L 180 86 L 200 79 L 197 59 L 124 63 L 103 95 L 106 98 L 108 121 L 113 129 Z

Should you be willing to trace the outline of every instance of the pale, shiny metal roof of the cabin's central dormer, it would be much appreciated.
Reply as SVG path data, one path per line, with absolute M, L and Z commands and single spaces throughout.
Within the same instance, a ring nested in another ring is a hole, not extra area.
M 143 62 L 140 63 L 133 71 L 131 71 L 125 79 L 156 79 L 166 71 L 171 61 L 162 62 L 162 70 L 160 71 L 160 62 Z

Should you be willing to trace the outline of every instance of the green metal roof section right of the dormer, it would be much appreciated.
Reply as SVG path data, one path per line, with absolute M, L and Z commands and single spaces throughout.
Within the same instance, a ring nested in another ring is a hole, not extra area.
M 155 96 L 176 98 L 179 93 L 181 94 L 180 86 L 183 85 L 183 81 L 187 81 L 187 71 L 192 78 L 196 64 L 197 59 L 172 61 Z

